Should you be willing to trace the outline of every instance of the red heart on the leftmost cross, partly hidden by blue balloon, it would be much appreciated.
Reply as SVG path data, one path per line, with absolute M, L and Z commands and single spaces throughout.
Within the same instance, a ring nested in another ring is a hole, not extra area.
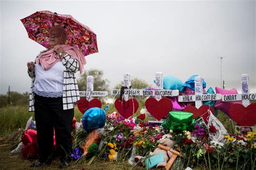
M 77 107 L 79 111 L 84 114 L 89 108 L 99 107 L 102 108 L 102 102 L 99 99 L 92 99 L 88 101 L 86 98 L 80 98 L 77 101 Z

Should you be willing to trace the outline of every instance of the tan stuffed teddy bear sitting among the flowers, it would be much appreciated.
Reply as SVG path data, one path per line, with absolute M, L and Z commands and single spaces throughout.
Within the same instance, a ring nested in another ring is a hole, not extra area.
M 175 141 L 171 140 L 170 138 L 172 137 L 171 134 L 164 134 L 163 137 L 159 140 L 159 144 L 168 146 L 168 147 L 173 147 L 175 144 Z M 172 157 L 172 153 L 170 151 L 165 151 L 159 147 L 154 149 L 153 155 L 157 155 L 160 153 L 164 153 L 164 162 L 159 162 L 157 164 L 157 168 L 164 168 L 165 165 L 167 164 L 168 160 Z M 134 157 L 134 161 L 138 162 L 140 159 L 145 159 L 144 157 L 136 156 Z

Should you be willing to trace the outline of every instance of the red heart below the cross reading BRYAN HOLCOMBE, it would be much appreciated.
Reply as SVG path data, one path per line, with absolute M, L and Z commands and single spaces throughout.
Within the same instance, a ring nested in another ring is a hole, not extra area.
M 160 120 L 172 110 L 172 101 L 166 97 L 159 101 L 155 98 L 148 98 L 145 101 L 145 107 L 154 118 Z

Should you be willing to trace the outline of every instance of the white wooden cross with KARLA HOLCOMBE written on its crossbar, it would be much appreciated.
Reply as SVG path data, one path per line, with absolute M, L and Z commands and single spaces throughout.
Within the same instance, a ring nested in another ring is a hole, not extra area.
M 203 78 L 200 76 L 194 78 L 195 95 L 179 96 L 179 102 L 195 101 L 196 107 L 199 108 L 203 105 L 203 101 L 220 100 L 221 94 L 203 94 Z

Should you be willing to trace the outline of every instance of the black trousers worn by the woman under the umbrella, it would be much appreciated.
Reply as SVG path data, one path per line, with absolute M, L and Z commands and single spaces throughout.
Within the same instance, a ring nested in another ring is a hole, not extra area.
M 56 151 L 60 161 L 69 161 L 72 152 L 72 119 L 74 109 L 63 110 L 62 97 L 48 98 L 35 94 L 35 119 L 37 127 L 38 155 L 41 162 L 51 161 L 53 128 Z

